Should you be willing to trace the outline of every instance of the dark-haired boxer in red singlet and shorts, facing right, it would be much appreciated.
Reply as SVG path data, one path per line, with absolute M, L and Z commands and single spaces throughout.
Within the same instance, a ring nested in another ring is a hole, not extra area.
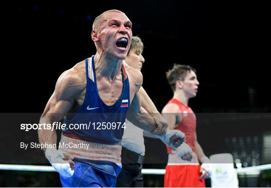
M 162 114 L 170 129 L 178 129 L 185 133 L 186 144 L 192 149 L 192 160 L 184 160 L 178 150 L 167 148 L 169 159 L 164 186 L 205 187 L 204 178 L 208 178 L 211 173 L 210 160 L 197 141 L 196 116 L 188 106 L 189 99 L 195 97 L 198 92 L 196 70 L 187 65 L 175 64 L 167 72 L 167 80 L 174 96 L 164 107 Z

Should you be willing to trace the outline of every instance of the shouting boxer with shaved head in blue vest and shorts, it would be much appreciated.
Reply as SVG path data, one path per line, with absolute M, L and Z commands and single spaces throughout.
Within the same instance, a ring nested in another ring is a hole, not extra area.
M 160 115 L 141 111 L 142 74 L 122 63 L 130 47 L 131 27 L 120 11 L 98 16 L 91 32 L 96 54 L 59 77 L 41 116 L 40 123 L 46 124 L 64 118 L 59 148 L 44 151 L 65 187 L 115 186 L 125 118 L 174 149 L 185 137 L 179 130 L 167 129 Z M 55 130 L 42 129 L 38 134 L 40 143 L 56 144 Z

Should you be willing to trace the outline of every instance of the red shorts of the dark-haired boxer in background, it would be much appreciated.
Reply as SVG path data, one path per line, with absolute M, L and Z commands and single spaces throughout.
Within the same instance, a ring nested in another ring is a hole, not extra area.
M 167 165 L 165 187 L 205 187 L 205 180 L 200 179 L 200 164 Z

